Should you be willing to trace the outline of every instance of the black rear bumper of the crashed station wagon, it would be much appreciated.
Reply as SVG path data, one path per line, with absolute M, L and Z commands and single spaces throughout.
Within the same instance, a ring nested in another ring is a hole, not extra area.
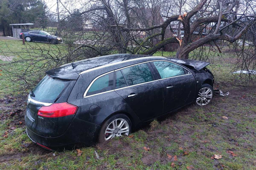
M 74 118 L 66 132 L 58 137 L 43 137 L 26 128 L 28 137 L 38 145 L 50 150 L 69 149 L 77 146 L 91 146 L 96 143 L 100 126 Z

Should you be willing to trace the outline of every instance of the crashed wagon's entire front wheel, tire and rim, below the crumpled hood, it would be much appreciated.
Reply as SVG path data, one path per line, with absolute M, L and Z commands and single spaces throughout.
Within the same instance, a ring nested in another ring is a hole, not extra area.
M 203 84 L 196 95 L 195 103 L 199 106 L 205 106 L 211 103 L 213 96 L 214 96 L 214 91 L 212 86 L 209 84 Z

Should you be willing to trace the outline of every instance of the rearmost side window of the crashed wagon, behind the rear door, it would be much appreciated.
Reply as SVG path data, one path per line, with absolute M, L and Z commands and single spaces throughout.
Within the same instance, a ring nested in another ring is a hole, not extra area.
M 93 82 L 86 96 L 113 90 L 114 72 L 99 77 Z

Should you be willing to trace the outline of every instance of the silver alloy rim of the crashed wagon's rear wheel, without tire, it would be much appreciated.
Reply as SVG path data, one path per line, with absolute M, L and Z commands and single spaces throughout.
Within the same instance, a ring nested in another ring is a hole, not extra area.
M 113 120 L 105 131 L 105 140 L 112 139 L 113 137 L 120 137 L 129 134 L 129 124 L 125 119 Z

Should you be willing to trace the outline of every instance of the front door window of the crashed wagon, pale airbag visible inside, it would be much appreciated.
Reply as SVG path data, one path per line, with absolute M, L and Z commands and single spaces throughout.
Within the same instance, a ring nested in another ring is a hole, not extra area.
M 167 61 L 154 61 L 153 63 L 162 79 L 186 74 L 184 69 L 177 64 Z

